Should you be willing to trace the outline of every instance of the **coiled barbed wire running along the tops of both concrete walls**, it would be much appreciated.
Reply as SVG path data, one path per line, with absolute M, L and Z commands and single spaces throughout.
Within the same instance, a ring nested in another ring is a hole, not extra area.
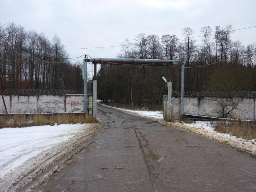
M 90 84 L 90 83 L 89 83 Z M 72 95 L 72 94 L 83 94 L 83 91 L 77 90 L 38 90 L 38 89 L 20 89 L 11 90 L 5 89 L 5 95 Z M 180 92 L 173 91 L 173 97 L 180 97 Z M 186 91 L 184 92 L 184 97 L 252 97 L 256 98 L 256 91 Z

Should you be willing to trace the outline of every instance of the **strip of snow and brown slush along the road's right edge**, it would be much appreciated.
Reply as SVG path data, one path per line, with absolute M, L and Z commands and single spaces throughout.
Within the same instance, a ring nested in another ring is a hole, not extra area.
M 111 108 L 115 108 L 115 107 L 111 107 Z M 163 114 L 160 114 L 161 112 L 143 112 L 143 111 L 136 111 L 136 110 L 121 109 L 121 108 L 115 108 L 115 109 L 121 110 L 126 113 L 130 113 L 130 114 L 136 114 L 143 117 L 150 117 L 158 120 L 161 120 L 161 119 L 163 120 Z M 189 131 L 197 135 L 204 136 L 208 139 L 217 141 L 219 143 L 225 144 L 226 146 L 232 147 L 238 151 L 247 153 L 252 157 L 256 158 L 256 138 L 251 140 L 246 140 L 243 138 L 237 138 L 231 133 L 226 134 L 226 133 L 220 133 L 220 132 L 214 131 L 214 124 L 218 123 L 217 121 L 195 121 L 193 123 L 183 123 L 183 122 L 182 123 L 165 122 L 165 123 L 172 127 L 184 129 L 186 131 Z

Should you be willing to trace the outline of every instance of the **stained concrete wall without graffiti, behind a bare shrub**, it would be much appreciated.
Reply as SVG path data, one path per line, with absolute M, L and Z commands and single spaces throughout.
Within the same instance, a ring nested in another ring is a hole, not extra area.
M 237 108 L 234 109 L 231 118 L 240 118 L 246 120 L 255 120 L 256 118 L 256 100 L 253 98 L 237 98 L 240 99 Z M 212 97 L 184 97 L 184 113 L 191 115 L 220 117 L 220 106 L 213 101 Z M 173 97 L 172 101 L 172 118 L 180 118 L 180 98 Z

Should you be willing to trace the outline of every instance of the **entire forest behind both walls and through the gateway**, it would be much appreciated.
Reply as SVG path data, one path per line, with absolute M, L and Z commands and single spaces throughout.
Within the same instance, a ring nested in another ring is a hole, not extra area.
M 120 44 L 118 58 L 185 61 L 185 91 L 256 91 L 256 43 L 231 39 L 232 25 L 202 27 L 193 37 L 189 27 L 176 34 L 140 33 Z M 180 35 L 180 34 L 179 34 Z M 0 25 L 0 84 L 3 89 L 83 90 L 83 69 L 69 58 L 57 35 L 26 31 L 15 23 Z M 81 58 L 82 59 L 82 58 Z M 181 66 L 101 65 L 98 99 L 149 109 L 162 105 L 167 93 L 162 76 L 180 91 Z M 170 71 L 170 72 L 169 72 Z

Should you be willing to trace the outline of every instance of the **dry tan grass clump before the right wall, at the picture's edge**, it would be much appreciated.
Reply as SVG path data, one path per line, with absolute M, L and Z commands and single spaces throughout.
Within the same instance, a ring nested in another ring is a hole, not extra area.
M 256 124 L 250 121 L 221 122 L 215 130 L 222 133 L 231 133 L 237 138 L 256 139 Z

